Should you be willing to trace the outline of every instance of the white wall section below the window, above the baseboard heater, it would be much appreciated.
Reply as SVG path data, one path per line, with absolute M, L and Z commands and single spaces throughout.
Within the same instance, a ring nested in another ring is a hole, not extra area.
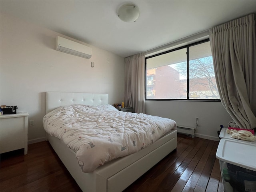
M 196 136 L 218 141 L 220 125 L 227 126 L 231 119 L 221 102 L 211 101 L 151 101 L 146 100 L 147 114 L 171 118 L 177 125 L 196 127 L 195 117 L 199 117 Z

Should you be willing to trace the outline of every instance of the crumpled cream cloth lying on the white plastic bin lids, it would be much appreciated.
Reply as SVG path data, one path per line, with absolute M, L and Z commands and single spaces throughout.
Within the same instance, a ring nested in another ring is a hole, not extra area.
M 226 129 L 226 132 L 230 134 L 231 138 L 240 139 L 244 141 L 255 141 L 256 136 L 252 134 L 252 132 L 247 130 L 234 130 L 234 129 Z

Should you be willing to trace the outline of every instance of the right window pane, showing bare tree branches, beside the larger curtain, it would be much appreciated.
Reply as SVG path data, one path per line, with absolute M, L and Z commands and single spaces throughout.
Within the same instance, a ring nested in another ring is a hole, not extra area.
M 189 47 L 189 98 L 220 99 L 210 42 Z

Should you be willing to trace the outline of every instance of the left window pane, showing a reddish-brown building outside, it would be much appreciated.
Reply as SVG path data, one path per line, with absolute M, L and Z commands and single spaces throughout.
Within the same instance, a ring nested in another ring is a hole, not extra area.
M 146 59 L 146 99 L 187 99 L 186 48 Z

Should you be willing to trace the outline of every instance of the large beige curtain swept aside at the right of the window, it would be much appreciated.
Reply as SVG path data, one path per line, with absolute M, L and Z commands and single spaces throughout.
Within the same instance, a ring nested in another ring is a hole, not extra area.
M 221 102 L 240 128 L 256 128 L 255 14 L 209 32 Z

